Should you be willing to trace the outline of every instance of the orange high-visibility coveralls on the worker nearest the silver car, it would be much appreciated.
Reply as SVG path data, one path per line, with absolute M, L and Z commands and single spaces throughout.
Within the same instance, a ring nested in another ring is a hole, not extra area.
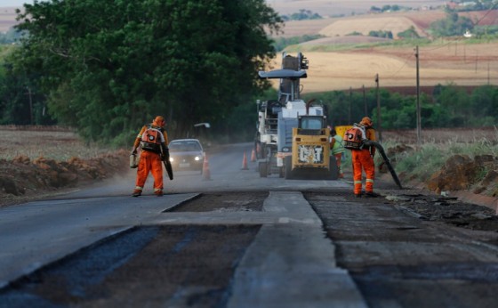
M 161 128 L 156 122 L 152 123 L 153 127 Z M 137 149 L 141 142 L 142 134 L 148 129 L 148 126 L 143 126 L 141 132 L 137 135 L 135 142 L 133 144 L 133 149 Z M 168 142 L 168 134 L 163 131 L 163 136 L 165 138 L 165 145 Z M 135 191 L 143 190 L 145 181 L 149 176 L 149 172 L 154 177 L 154 193 L 163 193 L 163 161 L 161 160 L 161 154 L 150 150 L 141 150 L 141 156 L 139 161 L 139 166 L 137 169 L 137 179 L 135 181 Z

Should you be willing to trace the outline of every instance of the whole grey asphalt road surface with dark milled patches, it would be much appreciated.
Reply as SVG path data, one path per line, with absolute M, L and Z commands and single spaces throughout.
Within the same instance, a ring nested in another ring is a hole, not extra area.
M 130 174 L 0 208 L 0 307 L 496 307 L 498 233 L 422 219 L 341 181 L 260 178 L 208 150 L 157 198 Z M 348 179 L 349 178 L 349 179 Z M 392 199 L 392 198 L 390 198 Z M 479 219 L 484 219 L 480 217 Z

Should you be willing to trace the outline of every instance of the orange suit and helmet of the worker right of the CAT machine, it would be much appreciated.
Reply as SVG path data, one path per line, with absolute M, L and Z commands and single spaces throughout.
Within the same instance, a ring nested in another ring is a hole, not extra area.
M 374 123 L 368 117 L 362 118 L 358 126 L 365 128 L 365 138 L 375 141 Z M 364 146 L 361 150 L 351 150 L 353 160 L 353 182 L 355 197 L 362 196 L 362 172 L 365 170 L 365 197 L 377 197 L 374 193 L 374 166 L 375 147 Z

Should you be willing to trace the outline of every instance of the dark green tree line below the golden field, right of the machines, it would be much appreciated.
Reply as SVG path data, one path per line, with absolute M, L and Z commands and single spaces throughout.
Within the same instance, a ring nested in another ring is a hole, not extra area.
M 377 95 L 383 129 L 416 128 L 416 95 L 380 89 L 308 93 L 329 110 L 333 126 L 351 125 L 368 116 L 376 120 Z M 498 119 L 498 86 L 481 85 L 471 91 L 455 85 L 437 85 L 432 93 L 421 93 L 421 120 L 424 128 L 495 126 Z

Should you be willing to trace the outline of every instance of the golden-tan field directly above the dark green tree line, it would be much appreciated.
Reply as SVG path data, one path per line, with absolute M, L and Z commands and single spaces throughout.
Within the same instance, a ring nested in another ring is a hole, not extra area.
M 491 85 L 498 84 L 498 42 L 463 45 L 442 42 L 419 49 L 420 85 Z M 414 47 L 372 47 L 333 53 L 297 48 L 309 60 L 308 78 L 302 80 L 304 93 L 346 90 L 375 86 L 379 74 L 381 87 L 415 86 Z M 293 52 L 289 52 L 293 54 Z M 278 54 L 274 67 L 281 63 Z

